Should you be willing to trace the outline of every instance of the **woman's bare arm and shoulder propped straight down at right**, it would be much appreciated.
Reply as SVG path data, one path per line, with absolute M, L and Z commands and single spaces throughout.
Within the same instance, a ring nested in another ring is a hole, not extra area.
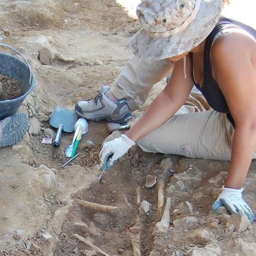
M 235 122 L 227 188 L 242 187 L 256 144 L 255 48 L 251 38 L 234 34 L 217 41 L 211 52 L 216 81 Z

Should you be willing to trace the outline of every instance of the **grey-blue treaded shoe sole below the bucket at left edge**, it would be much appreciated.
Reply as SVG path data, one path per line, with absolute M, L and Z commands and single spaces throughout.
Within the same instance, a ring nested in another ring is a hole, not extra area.
M 28 130 L 28 116 L 19 113 L 0 121 L 0 147 L 19 142 Z

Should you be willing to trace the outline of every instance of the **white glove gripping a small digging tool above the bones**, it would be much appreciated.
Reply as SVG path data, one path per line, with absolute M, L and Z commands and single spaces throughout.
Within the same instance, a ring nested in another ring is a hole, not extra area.
M 134 145 L 135 142 L 124 134 L 119 138 L 105 142 L 100 151 L 101 169 L 109 169 L 117 159 L 126 154 L 130 147 Z

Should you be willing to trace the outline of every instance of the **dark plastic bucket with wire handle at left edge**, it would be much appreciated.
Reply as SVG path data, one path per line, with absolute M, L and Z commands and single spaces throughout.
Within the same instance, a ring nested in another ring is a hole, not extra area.
M 17 80 L 21 84 L 21 90 L 24 93 L 21 97 L 16 99 L 0 101 L 1 120 L 5 117 L 16 114 L 24 99 L 35 87 L 36 80 L 28 61 L 19 51 L 11 46 L 3 45 L 2 43 L 0 43 L 0 46 L 12 49 L 24 59 L 24 61 L 21 61 L 19 58 L 13 55 L 0 52 L 0 74 L 12 77 Z

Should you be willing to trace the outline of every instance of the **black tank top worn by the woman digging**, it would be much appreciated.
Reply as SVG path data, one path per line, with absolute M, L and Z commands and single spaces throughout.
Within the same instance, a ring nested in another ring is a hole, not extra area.
M 196 88 L 198 88 L 199 91 L 204 95 L 206 101 L 208 101 L 208 104 L 218 112 L 227 113 L 228 119 L 230 122 L 232 122 L 233 126 L 234 120 L 232 116 L 230 115 L 229 108 L 227 105 L 227 102 L 224 98 L 223 93 L 220 91 L 220 88 L 218 86 L 218 83 L 215 81 L 213 74 L 211 73 L 211 61 L 210 61 L 210 50 L 211 45 L 213 44 L 215 36 L 219 33 L 219 35 L 224 35 L 225 28 L 231 27 L 239 27 L 250 33 L 254 38 L 256 38 L 256 31 L 252 27 L 249 27 L 241 22 L 234 21 L 233 19 L 228 18 L 221 18 L 220 21 L 216 24 L 213 31 L 211 31 L 210 35 L 206 38 L 205 41 L 205 48 L 204 48 L 204 73 L 203 73 L 203 85 L 200 88 L 199 85 L 195 83 Z M 227 29 L 226 29 L 227 31 Z M 193 67 L 193 54 L 190 54 L 192 67 Z M 193 69 L 194 70 L 194 69 Z M 194 73 L 194 72 L 193 72 Z

